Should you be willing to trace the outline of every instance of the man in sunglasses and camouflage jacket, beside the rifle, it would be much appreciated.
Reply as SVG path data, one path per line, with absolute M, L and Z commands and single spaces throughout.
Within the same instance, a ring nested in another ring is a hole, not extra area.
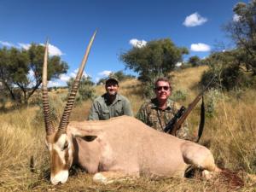
M 164 131 L 168 122 L 173 118 L 181 107 L 177 102 L 169 99 L 172 88 L 166 78 L 160 78 L 154 84 L 155 98 L 144 102 L 137 113 L 137 119 L 140 119 L 155 130 Z M 177 131 L 176 136 L 182 139 L 190 139 L 188 124 L 185 121 L 182 127 Z

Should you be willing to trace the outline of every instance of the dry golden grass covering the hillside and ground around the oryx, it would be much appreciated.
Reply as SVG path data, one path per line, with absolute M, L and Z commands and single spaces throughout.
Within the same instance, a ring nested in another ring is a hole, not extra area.
M 194 99 L 205 70 L 207 67 L 195 67 L 172 73 L 173 91 L 187 91 L 181 104 L 187 106 Z M 96 87 L 97 95 L 103 92 L 103 86 Z M 121 83 L 120 93 L 130 99 L 136 114 L 143 102 L 141 84 L 137 80 Z M 32 107 L 0 113 L 0 191 L 256 191 L 255 180 L 248 177 L 256 173 L 255 93 L 255 90 L 236 90 L 228 94 L 212 90 L 206 95 L 207 119 L 201 144 L 211 149 L 218 166 L 239 172 L 245 181 L 241 189 L 231 189 L 222 178 L 203 181 L 199 177 L 142 177 L 102 185 L 93 183 L 92 176 L 78 168 L 71 170 L 67 183 L 52 186 L 44 145 L 44 123 L 35 118 L 39 108 Z M 90 104 L 88 101 L 76 106 L 71 120 L 86 119 Z M 197 131 L 199 106 L 189 115 L 191 134 Z

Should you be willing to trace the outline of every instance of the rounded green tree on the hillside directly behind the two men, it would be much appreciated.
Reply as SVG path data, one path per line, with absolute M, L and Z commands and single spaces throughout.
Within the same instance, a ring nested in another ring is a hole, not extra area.
M 186 48 L 179 48 L 169 38 L 148 42 L 145 46 L 133 47 L 120 55 L 125 68 L 139 74 L 142 82 L 152 82 L 158 76 L 168 75 L 178 61 L 183 60 L 183 54 L 188 54 Z

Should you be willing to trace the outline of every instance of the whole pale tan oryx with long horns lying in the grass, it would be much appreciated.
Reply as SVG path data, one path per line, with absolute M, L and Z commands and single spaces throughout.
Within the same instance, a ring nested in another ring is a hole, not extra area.
M 201 167 L 204 172 L 218 172 L 212 153 L 207 148 L 155 131 L 135 118 L 121 116 L 105 121 L 69 122 L 79 80 L 95 35 L 84 54 L 57 131 L 49 115 L 48 43 L 45 46 L 42 91 L 51 183 L 67 182 L 68 169 L 73 164 L 95 173 L 94 180 L 106 183 L 113 178 L 141 174 L 183 177 L 189 165 Z

